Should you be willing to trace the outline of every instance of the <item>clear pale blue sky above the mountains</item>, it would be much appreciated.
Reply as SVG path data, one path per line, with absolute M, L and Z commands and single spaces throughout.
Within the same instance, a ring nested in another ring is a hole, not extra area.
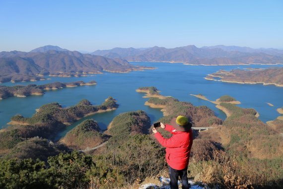
M 0 0 L 0 51 L 283 48 L 283 0 Z

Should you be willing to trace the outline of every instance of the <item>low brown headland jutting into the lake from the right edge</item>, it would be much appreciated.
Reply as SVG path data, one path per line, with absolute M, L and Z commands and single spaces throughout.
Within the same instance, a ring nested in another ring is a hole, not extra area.
M 269 68 L 264 70 L 219 70 L 216 73 L 209 74 L 205 79 L 228 83 L 263 84 L 283 87 L 283 68 Z

